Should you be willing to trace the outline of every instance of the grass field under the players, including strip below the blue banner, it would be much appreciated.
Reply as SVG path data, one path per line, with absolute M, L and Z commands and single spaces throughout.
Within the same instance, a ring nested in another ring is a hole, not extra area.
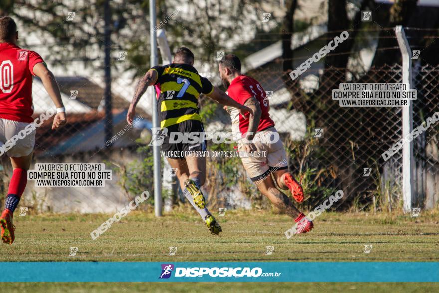
M 109 215 L 16 216 L 16 240 L 0 245 L 1 261 L 439 261 L 439 215 L 323 213 L 315 229 L 286 239 L 292 226 L 285 215 L 231 211 L 218 217 L 223 233 L 210 235 L 189 209 L 162 218 L 132 212 L 101 237 L 90 232 Z M 372 244 L 369 254 L 364 245 Z M 266 246 L 274 246 L 265 255 Z M 177 253 L 168 256 L 169 247 Z M 70 247 L 78 247 L 69 256 Z M 438 292 L 438 284 L 217 283 L 203 284 L 8 284 L 14 292 Z

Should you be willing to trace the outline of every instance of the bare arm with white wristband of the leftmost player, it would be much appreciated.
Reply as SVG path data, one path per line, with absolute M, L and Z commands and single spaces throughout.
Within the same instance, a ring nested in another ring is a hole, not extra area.
M 44 88 L 56 106 L 58 113 L 56 113 L 55 118 L 53 119 L 52 130 L 57 129 L 67 122 L 58 83 L 56 82 L 53 73 L 47 69 L 44 63 L 35 64 L 35 66 L 33 66 L 33 73 L 41 78 Z

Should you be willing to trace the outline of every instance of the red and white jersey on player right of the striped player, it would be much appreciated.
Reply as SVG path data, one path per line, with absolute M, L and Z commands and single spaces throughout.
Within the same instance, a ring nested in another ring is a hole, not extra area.
M 257 80 L 246 75 L 239 75 L 230 83 L 227 94 L 242 105 L 251 97 L 255 97 L 259 101 L 262 113 L 257 131 L 274 126 L 274 121 L 271 120 L 268 113 L 268 100 L 265 100 L 266 93 Z M 248 122 L 250 121 L 248 116 L 250 114 L 246 113 L 245 118 L 243 118 L 239 115 L 238 109 L 230 106 L 227 106 L 227 109 L 231 117 L 232 130 L 236 132 L 239 130 L 241 134 L 246 133 L 248 131 Z

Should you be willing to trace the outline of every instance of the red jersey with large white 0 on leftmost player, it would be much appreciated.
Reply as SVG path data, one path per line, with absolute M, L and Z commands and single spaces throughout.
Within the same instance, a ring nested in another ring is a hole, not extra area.
M 33 66 L 44 62 L 37 53 L 0 43 L 0 118 L 33 122 Z

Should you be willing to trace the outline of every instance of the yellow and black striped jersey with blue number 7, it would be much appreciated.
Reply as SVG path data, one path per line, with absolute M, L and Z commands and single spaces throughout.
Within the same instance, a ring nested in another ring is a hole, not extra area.
M 210 94 L 212 83 L 189 64 L 168 64 L 151 68 L 158 74 L 155 83 L 160 127 L 186 120 L 201 121 L 198 108 L 200 93 Z

